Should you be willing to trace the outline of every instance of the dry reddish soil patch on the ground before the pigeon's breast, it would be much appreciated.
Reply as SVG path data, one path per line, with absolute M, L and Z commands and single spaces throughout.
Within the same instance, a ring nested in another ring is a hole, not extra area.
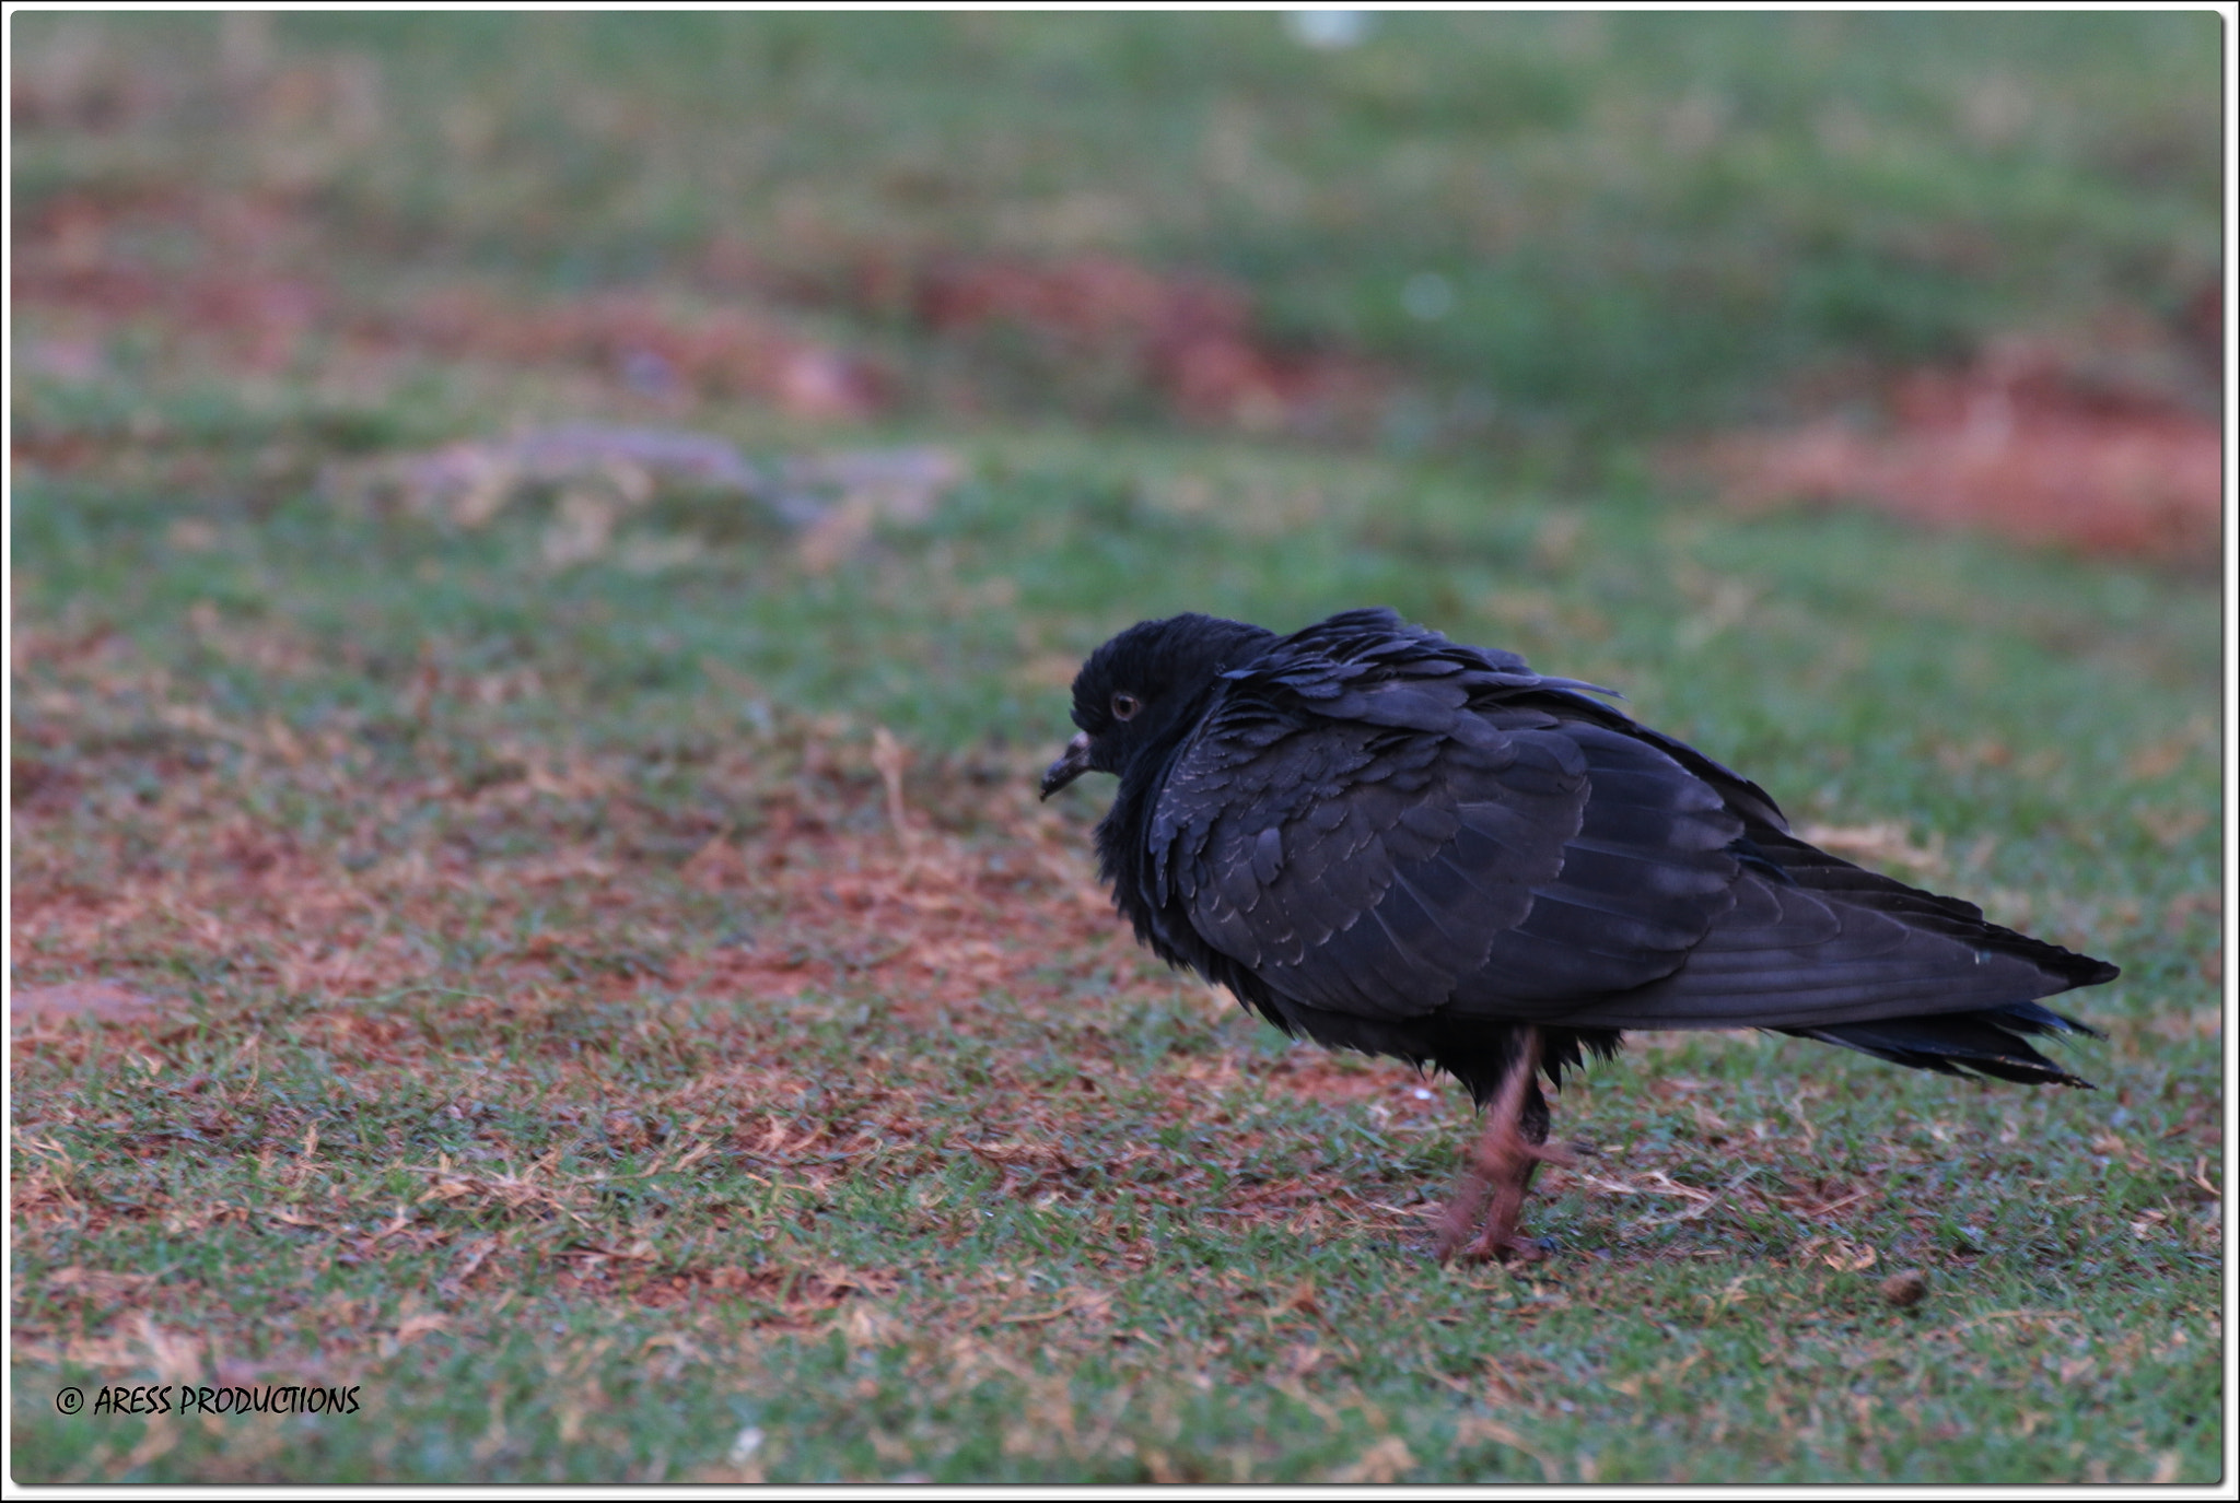
M 177 965 L 211 970 L 228 990 L 314 1003 L 358 1055 L 401 1059 L 417 1042 L 354 1001 L 439 983 L 470 997 L 459 1008 L 529 1017 L 650 988 L 822 992 L 909 1021 L 986 1019 L 1001 1035 L 1012 1019 L 1068 1008 L 1172 1006 L 1176 986 L 1196 986 L 1133 943 L 1091 874 L 1086 831 L 1042 806 L 1026 777 L 988 786 L 932 766 L 905 786 L 896 753 L 889 788 L 871 748 L 793 730 L 701 771 L 710 793 L 759 809 L 757 829 L 735 833 L 641 802 L 625 762 L 556 764 L 497 746 L 470 777 L 435 764 L 383 775 L 347 735 L 307 748 L 271 724 L 168 706 L 150 724 L 170 739 L 143 768 L 164 793 L 141 806 L 103 791 L 125 775 L 112 759 L 143 753 L 87 746 L 148 681 L 130 654 L 38 641 L 54 674 L 40 766 L 69 777 L 16 806 L 9 925 L 29 988 L 92 977 L 139 988 Z M 237 762 L 188 755 L 197 744 L 228 746 Z M 242 809 L 240 779 L 296 784 L 347 811 L 336 822 L 347 833 L 305 840 L 260 820 Z M 370 853 L 374 831 L 410 809 L 446 813 L 410 847 Z M 500 829 L 542 849 L 500 853 Z M 681 865 L 679 842 L 699 844 Z M 732 939 L 730 921 L 706 918 L 717 912 L 753 918 Z M 444 965 L 444 950 L 475 959 Z M 1404 1066 L 1362 1059 L 1286 1059 L 1275 1075 L 1313 1095 L 1416 1084 Z

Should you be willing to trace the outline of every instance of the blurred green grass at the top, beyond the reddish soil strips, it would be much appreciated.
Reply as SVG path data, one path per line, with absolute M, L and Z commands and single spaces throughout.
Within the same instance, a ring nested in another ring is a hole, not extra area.
M 889 332 L 865 262 L 1136 255 L 1400 361 L 1434 396 L 1398 446 L 1779 408 L 1799 370 L 2175 311 L 2220 255 L 2209 13 L 1387 16 L 1337 54 L 1266 13 L 284 16 L 233 72 L 206 18 L 13 25 L 22 76 L 125 121 L 25 130 L 18 213 L 184 177 L 309 211 L 361 282 L 571 293 L 735 244 Z M 1030 332 L 981 358 L 1113 417 Z

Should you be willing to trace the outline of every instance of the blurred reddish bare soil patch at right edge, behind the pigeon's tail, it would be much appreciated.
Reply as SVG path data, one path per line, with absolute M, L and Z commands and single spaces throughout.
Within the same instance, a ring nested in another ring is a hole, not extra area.
M 1687 464 L 1743 506 L 1864 502 L 2081 553 L 2218 556 L 2222 428 L 2175 394 L 2092 379 L 2047 345 L 1900 379 L 1888 423 L 1732 435 Z

